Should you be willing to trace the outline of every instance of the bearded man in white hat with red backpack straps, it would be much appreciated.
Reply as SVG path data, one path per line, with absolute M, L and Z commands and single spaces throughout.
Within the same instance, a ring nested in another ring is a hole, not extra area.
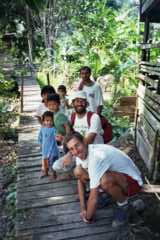
M 73 129 L 84 136 L 86 144 L 104 143 L 103 129 L 99 116 L 93 113 L 90 121 L 88 121 L 88 112 L 86 110 L 88 103 L 84 91 L 77 91 L 72 95 L 72 105 L 75 110 L 71 114 L 70 119 Z M 69 170 L 70 167 L 73 167 L 73 161 L 72 156 L 68 153 L 54 162 L 53 169 L 55 171 Z M 66 168 L 65 165 L 68 167 Z

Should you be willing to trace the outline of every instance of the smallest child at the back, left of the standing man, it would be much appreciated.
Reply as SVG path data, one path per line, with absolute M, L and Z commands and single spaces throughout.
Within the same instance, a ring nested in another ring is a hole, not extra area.
M 67 89 L 64 85 L 59 85 L 57 92 L 60 96 L 60 102 L 61 102 L 60 109 L 64 114 L 68 115 L 67 110 L 69 108 L 69 104 L 67 99 Z

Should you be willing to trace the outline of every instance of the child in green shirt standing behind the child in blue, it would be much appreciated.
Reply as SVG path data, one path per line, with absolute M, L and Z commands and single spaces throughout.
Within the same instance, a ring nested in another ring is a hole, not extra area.
M 72 128 L 67 116 L 60 110 L 60 97 L 58 94 L 51 94 L 47 97 L 47 106 L 49 111 L 54 113 L 54 126 L 57 131 L 57 141 L 62 143 L 66 134 L 70 133 Z

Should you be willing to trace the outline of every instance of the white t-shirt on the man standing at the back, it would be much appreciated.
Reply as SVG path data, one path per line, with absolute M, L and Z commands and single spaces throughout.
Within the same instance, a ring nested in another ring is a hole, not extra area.
M 103 95 L 100 85 L 95 82 L 92 86 L 83 86 L 83 91 L 86 93 L 89 103 L 87 110 L 96 112 L 97 107 L 103 105 Z

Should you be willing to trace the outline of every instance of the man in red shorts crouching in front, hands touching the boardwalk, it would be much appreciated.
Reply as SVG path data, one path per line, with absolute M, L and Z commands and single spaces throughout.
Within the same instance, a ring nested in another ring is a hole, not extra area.
M 109 193 L 117 203 L 113 227 L 127 222 L 128 198 L 137 194 L 143 185 L 141 174 L 133 161 L 122 151 L 106 144 L 86 145 L 75 132 L 65 141 L 70 153 L 76 157 L 75 176 L 78 179 L 81 217 L 91 223 L 97 208 L 98 189 Z M 85 203 L 85 185 L 90 180 L 90 194 Z

